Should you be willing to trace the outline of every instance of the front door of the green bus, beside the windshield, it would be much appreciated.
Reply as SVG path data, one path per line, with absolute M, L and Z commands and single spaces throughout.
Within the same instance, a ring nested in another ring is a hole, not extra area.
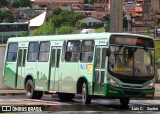
M 97 46 L 94 71 L 94 94 L 104 95 L 106 46 Z

